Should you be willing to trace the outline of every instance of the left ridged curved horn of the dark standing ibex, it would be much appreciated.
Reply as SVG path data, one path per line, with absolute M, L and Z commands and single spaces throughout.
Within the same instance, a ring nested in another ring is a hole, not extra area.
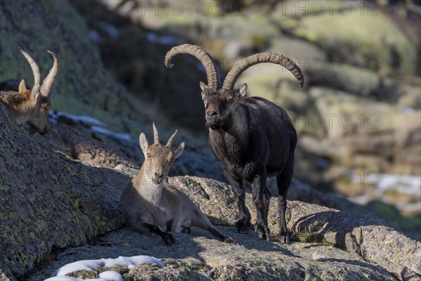
M 171 59 L 178 55 L 179 53 L 187 53 L 188 55 L 193 55 L 195 58 L 200 60 L 203 67 L 206 70 L 206 76 L 208 77 L 208 86 L 211 88 L 220 88 L 221 81 L 220 81 L 220 74 L 216 68 L 215 62 L 213 58 L 207 53 L 203 48 L 191 45 L 191 44 L 183 44 L 180 46 L 175 46 L 171 48 L 165 56 L 165 65 L 168 68 L 173 67 L 174 65 L 170 63 Z

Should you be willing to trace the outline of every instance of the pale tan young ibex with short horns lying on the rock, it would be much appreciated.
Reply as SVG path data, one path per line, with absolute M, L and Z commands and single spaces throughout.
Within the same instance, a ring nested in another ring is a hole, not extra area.
M 190 234 L 190 228 L 194 226 L 208 230 L 218 240 L 234 242 L 216 230 L 185 193 L 165 182 L 171 164 L 185 148 L 185 143 L 172 148 L 176 134 L 177 131 L 165 146 L 159 143 L 155 124 L 153 145 L 149 145 L 144 133 L 140 134 L 140 148 L 145 162 L 138 176 L 128 183 L 121 195 L 126 221 L 140 233 L 156 233 L 168 245 L 175 243 L 175 238 L 168 231 Z

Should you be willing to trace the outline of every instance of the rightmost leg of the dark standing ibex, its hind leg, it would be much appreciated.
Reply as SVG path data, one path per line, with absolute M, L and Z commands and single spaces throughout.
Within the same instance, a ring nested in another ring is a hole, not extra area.
M 276 176 L 276 183 L 278 185 L 279 197 L 278 197 L 278 209 L 279 209 L 279 241 L 281 243 L 289 243 L 290 235 L 286 228 L 286 195 L 293 179 L 294 172 L 294 155 L 288 160 L 288 164 L 283 171 Z

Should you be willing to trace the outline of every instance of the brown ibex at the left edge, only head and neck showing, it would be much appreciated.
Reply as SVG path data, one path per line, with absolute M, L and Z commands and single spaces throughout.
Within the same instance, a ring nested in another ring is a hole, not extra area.
M 55 53 L 48 51 L 54 59 L 54 65 L 41 84 L 38 65 L 25 51 L 21 48 L 19 50 L 31 65 L 34 73 L 34 87 L 32 90 L 28 90 L 25 80 L 22 80 L 18 92 L 0 91 L 0 101 L 6 105 L 8 112 L 18 124 L 28 122 L 36 131 L 44 135 L 48 132 L 50 124 L 48 122 L 48 110 L 51 107 L 51 88 L 58 74 L 58 58 Z

